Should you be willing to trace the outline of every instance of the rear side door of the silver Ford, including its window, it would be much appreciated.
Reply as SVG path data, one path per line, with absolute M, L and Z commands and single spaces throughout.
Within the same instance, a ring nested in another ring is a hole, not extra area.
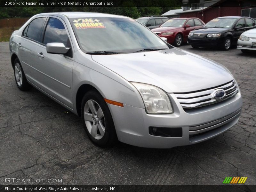
M 34 83 L 37 77 L 36 48 L 42 42 L 42 30 L 46 17 L 38 17 L 32 20 L 23 30 L 18 39 L 19 60 L 28 81 Z

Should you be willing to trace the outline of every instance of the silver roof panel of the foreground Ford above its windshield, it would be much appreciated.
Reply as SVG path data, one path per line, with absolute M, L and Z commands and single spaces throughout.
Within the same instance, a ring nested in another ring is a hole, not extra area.
M 36 16 L 41 15 L 54 15 L 54 16 L 66 16 L 68 18 L 79 18 L 79 17 L 119 17 L 119 18 L 127 18 L 122 15 L 113 15 L 107 13 L 93 13 L 93 12 L 50 12 L 50 13 L 40 13 Z

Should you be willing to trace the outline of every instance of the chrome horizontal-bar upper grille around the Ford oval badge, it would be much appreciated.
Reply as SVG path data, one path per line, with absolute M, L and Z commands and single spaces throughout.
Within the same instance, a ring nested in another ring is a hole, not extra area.
M 226 95 L 224 98 L 220 100 L 214 98 L 212 93 L 217 89 L 222 89 L 225 91 Z M 213 103 L 226 100 L 236 95 L 236 93 L 238 93 L 238 88 L 235 81 L 232 80 L 226 84 L 222 84 L 220 86 L 213 87 L 206 90 L 201 90 L 198 92 L 174 93 L 174 94 L 179 100 L 183 108 L 197 108 L 197 107 L 211 105 Z

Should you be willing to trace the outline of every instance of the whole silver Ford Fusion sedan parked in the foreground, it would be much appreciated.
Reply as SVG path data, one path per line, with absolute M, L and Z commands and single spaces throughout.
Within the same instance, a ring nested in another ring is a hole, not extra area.
M 215 137 L 240 116 L 224 66 L 167 44 L 124 16 L 33 16 L 10 39 L 15 81 L 81 116 L 99 146 L 172 148 Z

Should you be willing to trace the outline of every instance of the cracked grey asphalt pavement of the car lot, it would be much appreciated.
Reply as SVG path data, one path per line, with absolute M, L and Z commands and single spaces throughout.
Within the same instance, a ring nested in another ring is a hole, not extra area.
M 99 148 L 86 136 L 79 117 L 35 88 L 17 88 L 9 43 L 0 42 L 0 185 L 221 185 L 235 176 L 248 177 L 245 185 L 255 185 L 256 54 L 180 48 L 232 72 L 243 96 L 238 124 L 191 146 L 149 149 L 118 143 Z

